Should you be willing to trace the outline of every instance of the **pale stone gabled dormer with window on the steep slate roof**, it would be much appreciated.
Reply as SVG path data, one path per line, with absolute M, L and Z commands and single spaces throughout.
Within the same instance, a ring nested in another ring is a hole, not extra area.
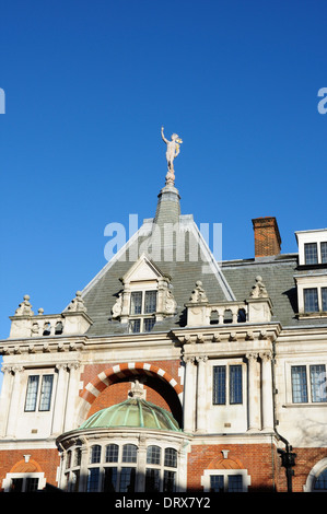
M 130 332 L 149 332 L 156 322 L 175 314 L 171 277 L 163 274 L 145 254 L 120 281 L 124 289 L 117 293 L 112 314 L 114 319 L 128 324 Z

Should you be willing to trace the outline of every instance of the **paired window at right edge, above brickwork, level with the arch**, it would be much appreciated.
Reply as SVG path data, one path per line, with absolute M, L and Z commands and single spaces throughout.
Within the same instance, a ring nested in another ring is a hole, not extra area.
M 310 374 L 310 390 L 307 385 L 307 373 Z M 292 366 L 291 381 L 293 404 L 307 404 L 308 401 L 316 404 L 327 401 L 325 364 Z

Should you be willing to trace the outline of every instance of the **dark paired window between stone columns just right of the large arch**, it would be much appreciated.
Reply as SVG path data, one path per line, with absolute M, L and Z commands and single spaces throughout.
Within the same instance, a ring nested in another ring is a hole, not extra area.
M 229 373 L 229 374 L 227 374 Z M 229 387 L 227 387 L 229 381 Z M 226 392 L 229 390 L 229 399 Z M 213 405 L 236 405 L 243 402 L 242 365 L 213 366 Z

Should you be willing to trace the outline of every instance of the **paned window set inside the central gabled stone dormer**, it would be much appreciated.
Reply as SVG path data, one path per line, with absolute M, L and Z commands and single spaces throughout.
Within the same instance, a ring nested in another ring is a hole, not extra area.
M 129 331 L 138 334 L 150 332 L 155 324 L 156 291 L 132 291 L 130 295 L 130 316 L 141 316 L 129 319 Z M 152 317 L 145 317 L 152 314 Z

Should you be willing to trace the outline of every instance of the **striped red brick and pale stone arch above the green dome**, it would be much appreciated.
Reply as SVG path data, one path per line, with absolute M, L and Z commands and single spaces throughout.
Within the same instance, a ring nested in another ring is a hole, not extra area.
M 139 374 L 157 376 L 168 383 L 182 402 L 183 387 L 162 367 L 147 362 L 126 362 L 108 367 L 101 372 L 92 382 L 89 382 L 81 397 L 91 406 L 98 395 L 109 385 L 119 382 L 121 378 L 125 379 Z

